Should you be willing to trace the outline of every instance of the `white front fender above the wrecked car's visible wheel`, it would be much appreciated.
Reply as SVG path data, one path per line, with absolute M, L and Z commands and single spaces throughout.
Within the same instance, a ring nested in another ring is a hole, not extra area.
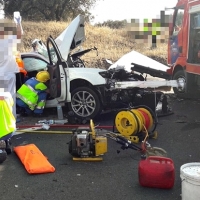
M 75 79 L 84 79 L 90 82 L 92 85 L 102 85 L 106 83 L 99 72 L 107 71 L 99 68 L 68 68 L 70 81 Z

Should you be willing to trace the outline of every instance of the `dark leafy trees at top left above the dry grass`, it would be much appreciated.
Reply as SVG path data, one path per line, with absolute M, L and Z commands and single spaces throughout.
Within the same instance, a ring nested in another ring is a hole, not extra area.
M 5 17 L 20 11 L 24 20 L 61 21 L 75 18 L 78 14 L 90 19 L 89 10 L 98 0 L 0 0 Z

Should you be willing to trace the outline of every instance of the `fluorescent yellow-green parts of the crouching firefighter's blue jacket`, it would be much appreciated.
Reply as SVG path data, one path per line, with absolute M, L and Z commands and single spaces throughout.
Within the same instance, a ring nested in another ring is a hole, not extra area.
M 17 91 L 17 97 L 26 103 L 31 110 L 35 109 L 38 102 L 38 92 L 35 89 L 46 90 L 47 86 L 44 83 L 38 83 L 33 88 L 25 83 Z

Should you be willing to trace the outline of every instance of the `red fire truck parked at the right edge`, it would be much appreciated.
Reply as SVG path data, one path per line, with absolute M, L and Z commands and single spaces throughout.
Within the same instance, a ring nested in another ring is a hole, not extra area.
M 185 83 L 174 88 L 179 97 L 200 97 L 200 0 L 179 0 L 173 9 L 167 72 Z

